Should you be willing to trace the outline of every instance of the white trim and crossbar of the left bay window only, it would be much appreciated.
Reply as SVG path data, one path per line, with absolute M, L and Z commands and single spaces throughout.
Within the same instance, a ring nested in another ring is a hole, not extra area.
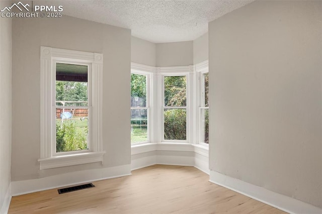
M 133 108 L 132 109 L 147 109 L 147 141 L 131 143 L 131 146 L 139 145 L 139 144 L 147 144 L 151 142 L 153 138 L 153 123 L 152 123 L 152 75 L 154 67 L 148 65 L 141 65 L 137 63 L 131 63 L 131 74 L 140 74 L 146 76 L 146 107 L 144 108 Z

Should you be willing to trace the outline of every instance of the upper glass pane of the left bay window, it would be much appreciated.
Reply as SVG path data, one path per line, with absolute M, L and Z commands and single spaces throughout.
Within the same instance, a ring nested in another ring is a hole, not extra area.
M 131 74 L 131 107 L 146 107 L 146 75 Z

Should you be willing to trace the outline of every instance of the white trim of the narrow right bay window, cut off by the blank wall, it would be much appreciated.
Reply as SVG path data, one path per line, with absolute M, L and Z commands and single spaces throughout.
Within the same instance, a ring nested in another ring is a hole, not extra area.
M 203 74 L 208 73 L 209 72 L 209 62 L 208 60 L 205 60 L 201 63 L 198 63 L 195 65 L 195 71 L 196 71 L 196 100 L 195 100 L 195 106 L 196 106 L 196 121 L 198 124 L 197 127 L 197 144 L 202 145 L 202 146 L 206 146 L 209 147 L 209 144 L 202 142 L 202 133 L 201 133 L 201 119 L 200 119 L 200 112 L 202 109 L 209 109 L 208 107 L 205 107 L 203 104 L 203 100 L 204 100 L 204 95 L 203 95 L 203 87 L 204 87 L 204 83 L 203 83 Z

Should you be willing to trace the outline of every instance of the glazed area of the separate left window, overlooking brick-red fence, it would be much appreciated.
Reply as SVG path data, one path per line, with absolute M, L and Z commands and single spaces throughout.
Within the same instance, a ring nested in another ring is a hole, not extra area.
M 89 151 L 90 65 L 55 61 L 54 155 Z

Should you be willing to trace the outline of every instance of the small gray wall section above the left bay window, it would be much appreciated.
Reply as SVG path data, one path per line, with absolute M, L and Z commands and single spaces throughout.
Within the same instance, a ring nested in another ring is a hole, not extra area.
M 155 66 L 155 44 L 132 36 L 131 62 Z

